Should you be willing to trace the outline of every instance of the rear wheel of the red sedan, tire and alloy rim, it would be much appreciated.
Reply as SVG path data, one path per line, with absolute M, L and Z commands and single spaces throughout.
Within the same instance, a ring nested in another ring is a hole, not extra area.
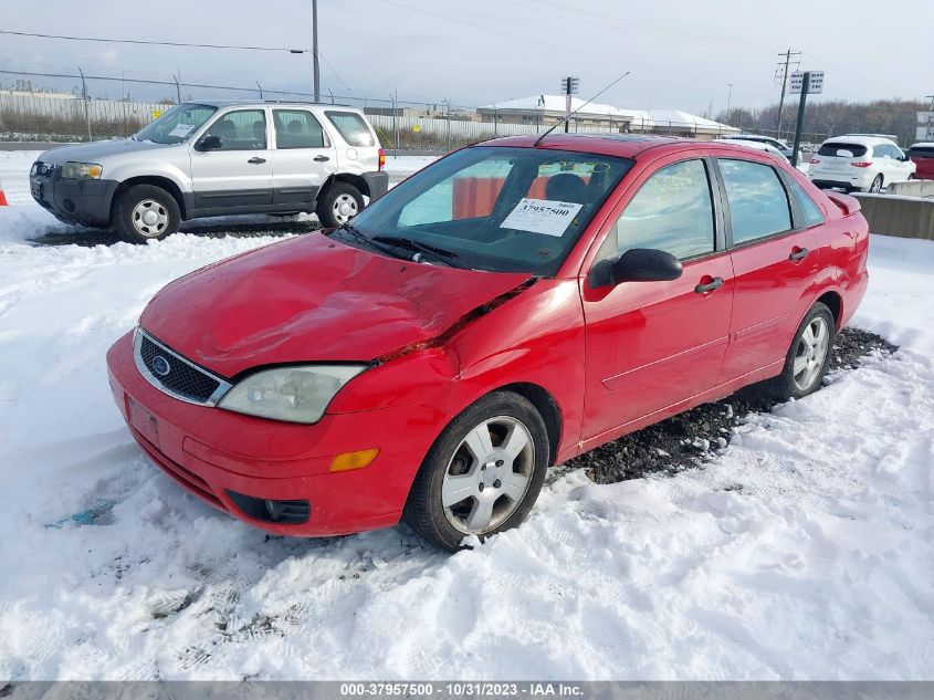
M 825 304 L 817 302 L 810 307 L 795 333 L 781 374 L 770 382 L 775 398 L 804 398 L 820 388 L 830 366 L 835 328 L 833 314 Z

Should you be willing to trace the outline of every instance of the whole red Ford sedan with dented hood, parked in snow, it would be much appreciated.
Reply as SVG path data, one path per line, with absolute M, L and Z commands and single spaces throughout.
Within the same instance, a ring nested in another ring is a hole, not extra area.
M 458 150 L 350 224 L 209 265 L 109 351 L 133 436 L 266 531 L 447 548 L 545 472 L 765 382 L 817 390 L 867 222 L 768 154 L 640 136 Z

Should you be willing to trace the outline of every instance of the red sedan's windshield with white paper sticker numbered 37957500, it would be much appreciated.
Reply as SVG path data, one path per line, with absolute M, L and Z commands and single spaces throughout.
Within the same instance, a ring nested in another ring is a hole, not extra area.
M 455 267 L 547 276 L 631 167 L 565 150 L 465 148 L 389 190 L 353 226 L 380 243 L 441 251 Z

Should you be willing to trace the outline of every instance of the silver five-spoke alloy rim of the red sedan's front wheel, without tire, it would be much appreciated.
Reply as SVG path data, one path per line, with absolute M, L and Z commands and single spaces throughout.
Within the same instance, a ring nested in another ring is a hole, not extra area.
M 461 440 L 441 484 L 448 522 L 482 535 L 502 525 L 525 498 L 535 468 L 528 428 L 511 416 L 489 418 Z

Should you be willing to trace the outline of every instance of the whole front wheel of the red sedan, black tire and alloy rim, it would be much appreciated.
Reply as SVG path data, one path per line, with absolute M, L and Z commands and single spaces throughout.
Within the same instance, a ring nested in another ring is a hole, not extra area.
M 403 518 L 426 540 L 455 552 L 515 527 L 535 504 L 548 470 L 545 421 L 524 396 L 494 391 L 454 418 L 412 483 Z

